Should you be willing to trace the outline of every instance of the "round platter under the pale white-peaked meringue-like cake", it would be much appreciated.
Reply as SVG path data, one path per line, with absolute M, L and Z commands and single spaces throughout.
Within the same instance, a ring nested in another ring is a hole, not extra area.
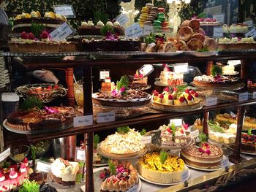
M 103 151 L 100 147 L 98 147 L 99 155 L 102 155 L 105 158 L 111 158 L 116 160 L 127 160 L 132 158 L 139 158 L 147 153 L 148 149 L 146 147 L 143 150 L 140 150 L 136 153 L 129 153 L 129 154 L 116 154 L 116 153 L 108 153 Z

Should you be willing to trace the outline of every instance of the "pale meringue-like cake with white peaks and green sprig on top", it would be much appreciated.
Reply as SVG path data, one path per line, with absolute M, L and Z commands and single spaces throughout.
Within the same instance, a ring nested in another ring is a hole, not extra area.
M 145 145 L 141 144 L 141 139 L 142 136 L 135 129 L 125 128 L 123 131 L 118 128 L 115 134 L 108 135 L 104 141 L 100 142 L 99 149 L 113 154 L 139 153 L 145 148 Z

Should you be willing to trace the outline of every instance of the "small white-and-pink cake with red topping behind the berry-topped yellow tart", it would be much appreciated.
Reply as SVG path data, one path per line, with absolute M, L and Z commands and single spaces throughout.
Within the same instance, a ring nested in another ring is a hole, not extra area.
M 170 72 L 168 66 L 165 65 L 165 68 L 160 73 L 159 83 L 161 83 L 164 86 L 182 85 L 184 83 L 183 74 Z

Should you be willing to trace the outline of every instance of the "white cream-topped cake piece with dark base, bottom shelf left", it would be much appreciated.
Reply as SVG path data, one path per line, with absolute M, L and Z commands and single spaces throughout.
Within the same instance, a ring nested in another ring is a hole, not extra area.
M 78 162 L 57 158 L 51 165 L 51 174 L 56 183 L 62 185 L 75 185 L 75 178 L 78 174 Z

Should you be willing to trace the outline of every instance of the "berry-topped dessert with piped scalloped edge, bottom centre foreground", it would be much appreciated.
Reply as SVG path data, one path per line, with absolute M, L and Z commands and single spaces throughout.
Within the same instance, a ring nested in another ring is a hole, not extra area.
M 123 161 L 109 161 L 109 169 L 104 169 L 99 177 L 102 179 L 101 191 L 127 191 L 138 185 L 139 178 L 132 164 Z

